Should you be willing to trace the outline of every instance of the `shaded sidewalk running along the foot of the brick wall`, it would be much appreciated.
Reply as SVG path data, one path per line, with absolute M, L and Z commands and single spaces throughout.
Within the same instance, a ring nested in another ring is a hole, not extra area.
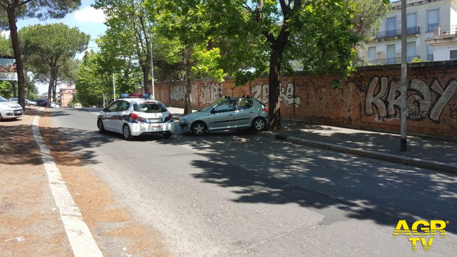
M 182 108 L 172 108 L 175 119 Z M 350 153 L 410 166 L 457 173 L 457 140 L 408 136 L 401 152 L 400 135 L 282 120 L 284 131 L 261 135 L 291 143 Z

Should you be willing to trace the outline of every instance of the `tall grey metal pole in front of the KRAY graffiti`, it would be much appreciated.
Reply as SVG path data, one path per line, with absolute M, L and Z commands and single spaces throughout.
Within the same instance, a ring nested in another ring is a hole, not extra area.
M 400 151 L 406 151 L 406 99 L 408 98 L 408 78 L 407 78 L 407 63 L 406 63 L 406 0 L 402 0 L 402 71 L 400 88 L 401 102 L 400 102 Z

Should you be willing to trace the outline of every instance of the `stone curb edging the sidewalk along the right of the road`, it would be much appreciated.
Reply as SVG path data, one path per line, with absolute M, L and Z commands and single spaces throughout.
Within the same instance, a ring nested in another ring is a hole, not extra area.
M 425 168 L 425 169 L 431 169 L 431 170 L 437 170 L 437 171 L 450 172 L 450 173 L 457 174 L 457 165 L 437 162 L 435 160 L 414 158 L 414 157 L 408 157 L 408 156 L 384 153 L 384 152 L 378 152 L 378 151 L 360 150 L 360 149 L 356 149 L 356 148 L 352 148 L 352 147 L 348 147 L 348 146 L 342 146 L 342 145 L 337 145 L 337 144 L 332 144 L 332 143 L 325 143 L 325 142 L 321 142 L 321 141 L 309 140 L 309 139 L 293 137 L 293 136 L 285 136 L 285 135 L 281 135 L 281 134 L 274 133 L 274 132 L 268 132 L 268 131 L 259 132 L 259 135 L 273 139 L 273 140 L 282 140 L 282 141 L 287 141 L 287 142 L 299 144 L 299 145 L 306 145 L 306 146 L 321 148 L 321 149 L 330 150 L 330 151 L 349 153 L 349 154 L 354 154 L 354 155 L 358 155 L 358 156 L 362 156 L 362 157 L 384 160 L 386 162 L 391 162 L 391 163 L 398 163 L 398 164 L 413 166 L 413 167 L 417 167 L 417 168 Z

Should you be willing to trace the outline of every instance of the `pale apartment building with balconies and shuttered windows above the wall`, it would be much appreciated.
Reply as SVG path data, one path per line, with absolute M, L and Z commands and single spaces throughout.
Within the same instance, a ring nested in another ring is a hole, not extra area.
M 373 64 L 401 62 L 401 1 L 391 4 L 375 38 L 358 52 Z M 407 0 L 406 10 L 407 61 L 457 58 L 457 0 Z

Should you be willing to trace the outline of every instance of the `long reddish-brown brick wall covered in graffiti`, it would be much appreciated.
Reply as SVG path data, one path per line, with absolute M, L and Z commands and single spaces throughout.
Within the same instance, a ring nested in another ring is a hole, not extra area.
M 282 76 L 282 117 L 399 132 L 400 65 L 358 68 L 342 82 L 341 89 L 331 89 L 333 79 L 332 75 Z M 408 133 L 456 138 L 457 60 L 412 63 L 408 79 Z M 184 81 L 155 85 L 156 99 L 169 106 L 183 107 L 184 92 Z M 223 95 L 243 94 L 268 103 L 268 78 L 258 78 L 240 87 L 235 87 L 231 78 L 221 84 L 195 80 L 191 101 L 194 108 L 203 108 Z

